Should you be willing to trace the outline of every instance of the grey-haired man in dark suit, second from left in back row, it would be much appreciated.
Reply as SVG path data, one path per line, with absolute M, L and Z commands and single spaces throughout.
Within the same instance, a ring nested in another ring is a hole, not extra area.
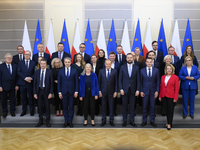
M 38 64 L 38 57 L 44 57 L 47 60 L 47 64 L 51 65 L 50 55 L 44 52 L 44 45 L 42 43 L 37 45 L 38 53 L 33 55 L 33 61 Z

